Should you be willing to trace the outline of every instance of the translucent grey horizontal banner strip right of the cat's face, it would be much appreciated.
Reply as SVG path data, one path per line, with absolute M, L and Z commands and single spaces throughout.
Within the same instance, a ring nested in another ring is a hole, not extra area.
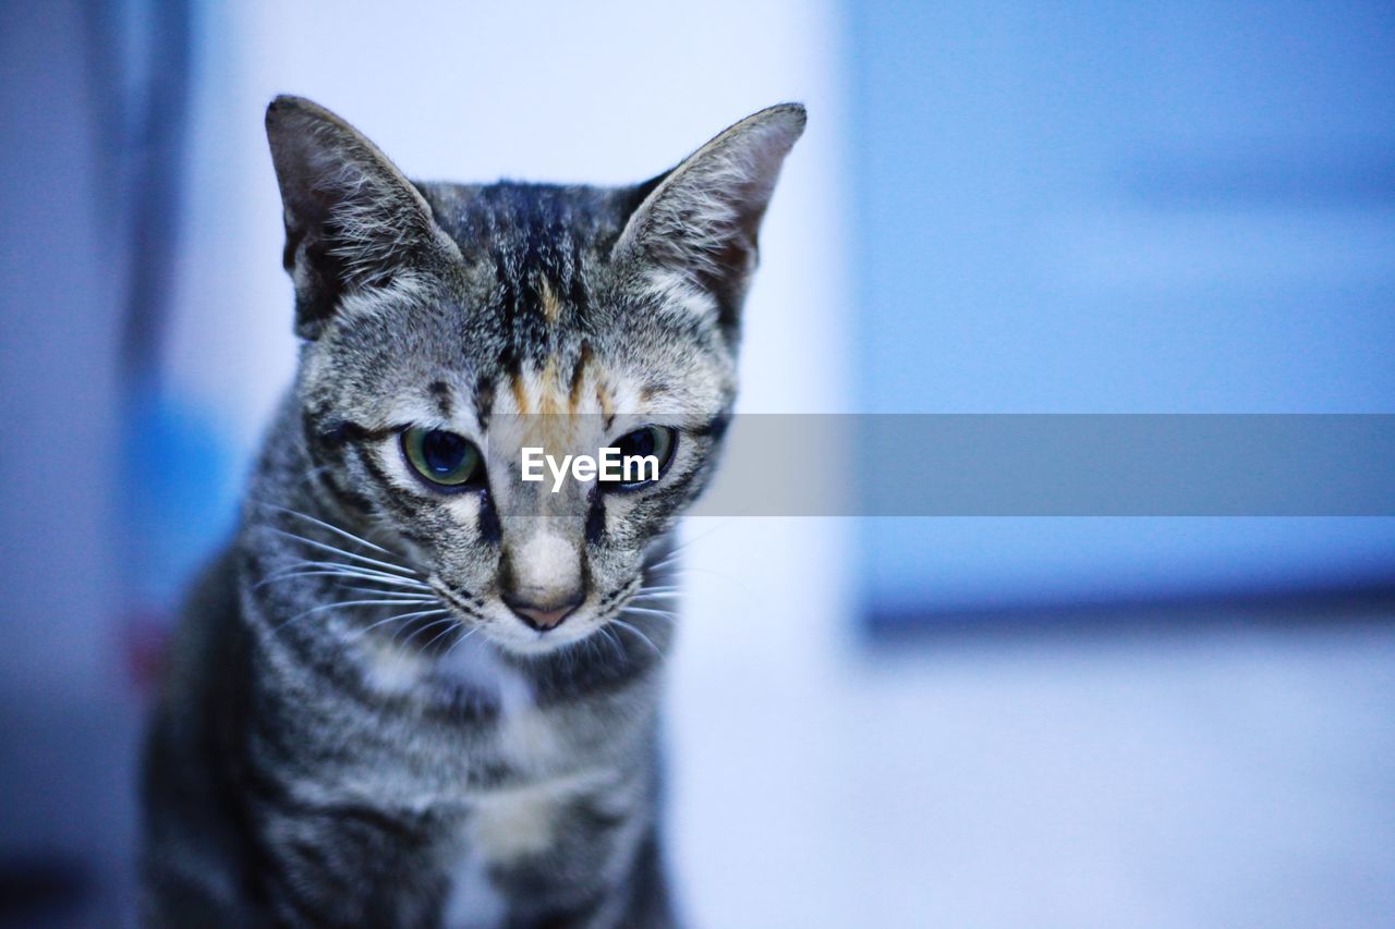
M 746 414 L 699 516 L 1395 516 L 1392 414 Z

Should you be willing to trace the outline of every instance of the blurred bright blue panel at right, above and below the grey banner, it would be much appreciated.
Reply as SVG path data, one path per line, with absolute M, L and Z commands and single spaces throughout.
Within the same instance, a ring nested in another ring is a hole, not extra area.
M 1395 7 L 847 17 L 861 409 L 1395 410 Z M 864 452 L 882 481 L 907 449 Z M 1378 519 L 868 520 L 862 540 L 873 611 L 1395 571 Z

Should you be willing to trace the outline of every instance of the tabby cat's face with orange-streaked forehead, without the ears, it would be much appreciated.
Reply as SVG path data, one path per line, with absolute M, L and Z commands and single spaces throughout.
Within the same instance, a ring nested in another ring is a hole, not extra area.
M 343 505 L 481 635 L 557 647 L 625 607 L 646 545 L 704 484 L 735 389 L 731 346 L 600 262 L 585 299 L 538 271 L 552 308 L 509 305 L 492 261 L 452 271 L 375 294 L 306 347 L 307 438 Z M 643 439 L 663 452 L 657 480 L 558 484 L 545 464 L 543 481 L 522 480 L 523 448 L 559 463 Z

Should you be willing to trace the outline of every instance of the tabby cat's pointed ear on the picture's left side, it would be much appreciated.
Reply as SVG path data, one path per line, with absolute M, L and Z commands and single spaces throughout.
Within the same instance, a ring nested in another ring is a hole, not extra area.
M 266 139 L 296 282 L 296 333 L 319 336 L 339 301 L 398 275 L 459 258 L 431 206 L 354 127 L 299 96 L 266 107 Z

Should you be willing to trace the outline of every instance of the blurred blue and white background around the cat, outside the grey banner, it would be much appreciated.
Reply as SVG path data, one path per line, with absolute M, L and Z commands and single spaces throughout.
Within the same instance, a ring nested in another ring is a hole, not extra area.
M 294 360 L 278 92 L 590 183 L 808 103 L 746 411 L 1395 413 L 1388 3 L 6 3 L 7 923 L 130 922 L 162 633 Z M 1389 925 L 1395 520 L 685 531 L 693 925 Z

